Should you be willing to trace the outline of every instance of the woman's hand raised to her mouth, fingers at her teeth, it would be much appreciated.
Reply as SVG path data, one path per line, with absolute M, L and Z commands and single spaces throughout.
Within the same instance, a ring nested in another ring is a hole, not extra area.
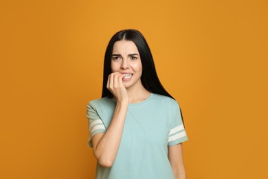
M 126 91 L 126 87 L 124 87 L 123 78 L 124 74 L 120 74 L 119 72 L 111 73 L 108 76 L 107 89 L 109 89 L 118 102 L 129 102 L 129 94 Z

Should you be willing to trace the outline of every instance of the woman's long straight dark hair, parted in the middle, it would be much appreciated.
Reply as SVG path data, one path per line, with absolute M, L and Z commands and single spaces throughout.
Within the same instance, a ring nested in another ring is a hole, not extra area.
M 173 98 L 161 85 L 157 72 L 155 70 L 155 63 L 153 62 L 153 56 L 150 52 L 150 48 L 144 39 L 141 32 L 137 30 L 121 30 L 117 32 L 107 46 L 107 50 L 104 56 L 104 69 L 103 69 L 103 84 L 102 84 L 102 97 L 113 97 L 113 94 L 107 89 L 108 76 L 111 74 L 111 55 L 113 52 L 113 45 L 116 41 L 133 41 L 139 51 L 139 56 L 142 61 L 142 85 L 149 91 L 155 94 L 161 94 Z M 173 98 L 174 99 L 174 98 Z

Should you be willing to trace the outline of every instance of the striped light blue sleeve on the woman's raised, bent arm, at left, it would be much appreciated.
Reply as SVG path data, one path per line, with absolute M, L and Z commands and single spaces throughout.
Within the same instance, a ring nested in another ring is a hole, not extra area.
M 106 128 L 102 123 L 100 116 L 95 107 L 91 103 L 87 105 L 87 118 L 89 121 L 89 141 L 88 146 L 92 147 L 92 137 L 99 132 L 105 132 Z

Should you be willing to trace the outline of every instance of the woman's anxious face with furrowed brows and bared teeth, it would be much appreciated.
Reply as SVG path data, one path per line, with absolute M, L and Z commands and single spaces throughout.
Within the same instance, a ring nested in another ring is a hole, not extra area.
M 124 87 L 142 85 L 142 61 L 133 41 L 116 41 L 111 57 L 111 72 L 124 74 Z

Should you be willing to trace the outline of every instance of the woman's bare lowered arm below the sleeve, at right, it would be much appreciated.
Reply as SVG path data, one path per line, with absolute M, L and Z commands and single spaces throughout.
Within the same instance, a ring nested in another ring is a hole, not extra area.
M 176 179 L 186 179 L 186 169 L 183 162 L 182 143 L 168 147 L 170 161 Z

